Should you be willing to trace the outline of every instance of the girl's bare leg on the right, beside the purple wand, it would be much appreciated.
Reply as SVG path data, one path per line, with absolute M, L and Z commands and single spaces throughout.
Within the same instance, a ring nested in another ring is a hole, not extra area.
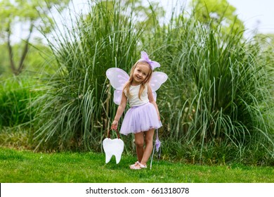
M 155 129 L 150 129 L 148 132 L 145 132 L 145 151 L 143 152 L 143 158 L 141 160 L 142 165 L 146 165 L 150 158 L 153 149 L 154 130 Z

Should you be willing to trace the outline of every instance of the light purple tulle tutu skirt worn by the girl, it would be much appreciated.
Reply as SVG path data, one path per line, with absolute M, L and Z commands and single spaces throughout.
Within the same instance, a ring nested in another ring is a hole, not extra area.
M 158 119 L 155 106 L 152 103 L 145 103 L 142 106 L 131 107 L 126 112 L 120 133 L 124 135 L 136 134 L 159 127 L 162 127 L 162 122 Z

